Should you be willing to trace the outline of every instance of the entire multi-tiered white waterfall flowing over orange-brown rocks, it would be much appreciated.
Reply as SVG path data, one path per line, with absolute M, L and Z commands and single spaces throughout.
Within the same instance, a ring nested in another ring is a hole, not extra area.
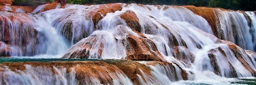
M 248 22 L 243 13 L 213 9 L 217 16 L 218 36 L 223 39 L 219 40 L 212 35 L 214 33 L 207 20 L 182 6 L 117 3 L 66 5 L 61 8 L 57 4 L 52 10 L 42 12 L 46 6 L 38 6 L 32 14 L 24 14 L 21 9 L 16 10 L 20 13 L 8 12 L 12 10 L 8 7 L 7 11 L 0 11 L 0 51 L 4 52 L 0 55 L 40 57 L 47 54 L 55 57 L 62 56 L 73 45 L 62 58 L 124 58 L 169 62 L 167 65 L 140 62 L 151 69 L 150 74 L 137 69 L 140 72 L 136 73 L 139 83 L 146 85 L 256 76 L 256 58 L 251 52 L 255 51 L 256 45 L 254 12 L 245 12 L 251 20 Z M 0 78 L 7 85 L 13 84 L 12 78 L 23 85 L 34 85 L 35 82 L 42 85 L 78 84 L 75 77 L 79 75 L 75 75 L 74 69 L 66 72 L 66 68 L 53 67 L 52 72 L 43 67 L 25 67 L 24 71 L 11 71 L 5 67 L 3 72 L 0 71 L 3 74 Z M 111 84 L 134 84 L 122 71 L 101 69 L 107 71 Z M 40 74 L 49 74 L 53 80 L 40 77 Z M 96 73 L 93 71 L 87 75 Z M 83 83 L 101 84 L 99 79 L 104 78 L 93 76 Z

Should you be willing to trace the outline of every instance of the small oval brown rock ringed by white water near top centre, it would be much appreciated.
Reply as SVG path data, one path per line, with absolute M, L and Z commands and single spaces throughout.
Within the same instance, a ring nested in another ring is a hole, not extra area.
M 120 17 L 125 20 L 131 29 L 141 32 L 139 19 L 133 11 L 126 11 L 125 13 L 121 14 Z

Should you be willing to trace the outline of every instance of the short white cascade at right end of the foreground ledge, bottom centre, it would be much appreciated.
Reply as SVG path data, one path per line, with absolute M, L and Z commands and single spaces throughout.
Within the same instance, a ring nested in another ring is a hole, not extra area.
M 172 82 L 187 80 L 187 73 L 175 63 L 161 62 L 140 62 L 151 68 L 151 75 L 140 69 L 142 75 L 138 75 L 139 81 L 143 85 L 170 85 Z

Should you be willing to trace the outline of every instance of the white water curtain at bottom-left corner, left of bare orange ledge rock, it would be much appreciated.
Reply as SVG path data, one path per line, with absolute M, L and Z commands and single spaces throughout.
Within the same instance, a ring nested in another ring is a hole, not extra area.
M 8 67 L 2 68 L 2 70 L 0 72 L 1 78 L 3 78 L 1 84 L 4 85 L 77 85 L 74 68 L 67 72 L 66 68 L 53 67 L 50 69 L 25 65 L 24 71 L 11 71 Z

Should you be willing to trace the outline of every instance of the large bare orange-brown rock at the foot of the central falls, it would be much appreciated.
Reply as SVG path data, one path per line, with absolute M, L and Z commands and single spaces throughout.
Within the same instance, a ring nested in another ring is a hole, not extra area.
M 127 49 L 126 59 L 147 60 L 147 61 L 165 61 L 163 56 L 157 51 L 156 45 L 148 39 L 128 35 L 127 40 L 131 49 Z M 149 45 L 152 49 L 149 48 Z

